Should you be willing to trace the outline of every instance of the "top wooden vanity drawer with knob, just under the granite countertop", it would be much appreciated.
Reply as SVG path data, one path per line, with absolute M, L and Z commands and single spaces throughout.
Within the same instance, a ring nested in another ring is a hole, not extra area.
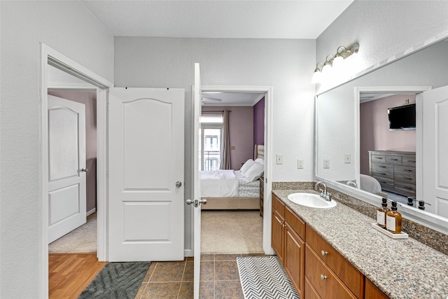
M 325 262 L 328 267 L 335 272 L 339 279 L 344 281 L 344 284 L 346 284 L 346 286 L 353 292 L 353 294 L 356 295 L 356 297 L 361 298 L 364 286 L 363 274 L 356 270 L 356 267 L 353 267 L 353 265 L 341 256 L 320 235 L 318 235 L 313 229 L 309 228 L 308 225 L 306 231 L 307 244 L 311 247 L 311 249 L 313 249 L 318 254 L 319 258 L 321 258 L 323 262 Z M 308 256 L 306 259 L 308 259 Z M 323 296 L 322 294 L 321 296 L 323 298 L 329 298 L 327 296 Z

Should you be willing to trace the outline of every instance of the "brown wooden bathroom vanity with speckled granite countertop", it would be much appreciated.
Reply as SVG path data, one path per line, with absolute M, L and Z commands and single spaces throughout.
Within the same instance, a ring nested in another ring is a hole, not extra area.
M 447 298 L 448 256 L 391 239 L 374 219 L 337 202 L 304 207 L 272 190 L 272 248 L 300 298 Z

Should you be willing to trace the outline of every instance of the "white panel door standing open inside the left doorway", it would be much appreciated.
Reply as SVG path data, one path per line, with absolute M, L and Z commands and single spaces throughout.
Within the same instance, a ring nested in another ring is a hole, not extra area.
M 86 222 L 85 105 L 48 95 L 48 243 Z

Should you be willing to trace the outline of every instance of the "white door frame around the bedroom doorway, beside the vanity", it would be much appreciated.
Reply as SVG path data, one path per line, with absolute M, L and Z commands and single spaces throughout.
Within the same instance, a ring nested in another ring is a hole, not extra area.
M 202 92 L 258 92 L 265 94 L 265 204 L 263 204 L 263 240 L 265 254 L 274 254 L 271 246 L 271 200 L 272 200 L 272 120 L 274 87 L 254 85 L 202 85 Z M 193 161 L 193 156 L 192 156 Z M 193 163 L 193 162 L 192 162 Z M 193 169 L 192 169 L 193 172 Z M 193 197 L 191 197 L 193 198 Z M 193 209 L 192 209 L 193 219 Z M 193 228 L 193 225 L 192 225 Z M 191 244 L 194 247 L 194 232 L 191 234 Z M 194 248 L 193 248 L 194 250 Z

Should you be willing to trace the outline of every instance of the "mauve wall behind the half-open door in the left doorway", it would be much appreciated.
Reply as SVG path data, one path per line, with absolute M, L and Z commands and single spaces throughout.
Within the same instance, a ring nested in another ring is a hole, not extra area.
M 51 91 L 48 95 L 85 104 L 86 211 L 97 207 L 97 92 Z

